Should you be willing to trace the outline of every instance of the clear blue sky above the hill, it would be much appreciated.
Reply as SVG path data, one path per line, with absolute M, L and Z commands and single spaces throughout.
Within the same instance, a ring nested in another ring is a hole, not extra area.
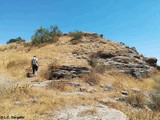
M 160 60 L 160 0 L 0 0 L 0 43 L 50 25 L 97 32 Z

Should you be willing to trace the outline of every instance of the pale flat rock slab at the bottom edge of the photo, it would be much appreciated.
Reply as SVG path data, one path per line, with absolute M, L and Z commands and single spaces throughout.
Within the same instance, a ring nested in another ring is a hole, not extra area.
M 121 111 L 108 108 L 104 105 L 78 106 L 58 111 L 52 120 L 128 120 Z

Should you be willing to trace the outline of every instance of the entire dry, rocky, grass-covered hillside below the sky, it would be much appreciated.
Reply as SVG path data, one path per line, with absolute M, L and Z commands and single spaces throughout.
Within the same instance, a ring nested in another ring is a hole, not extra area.
M 157 59 L 96 33 L 81 35 L 63 34 L 38 46 L 0 45 L 0 113 L 39 120 L 158 120 Z M 34 55 L 37 76 L 31 74 Z

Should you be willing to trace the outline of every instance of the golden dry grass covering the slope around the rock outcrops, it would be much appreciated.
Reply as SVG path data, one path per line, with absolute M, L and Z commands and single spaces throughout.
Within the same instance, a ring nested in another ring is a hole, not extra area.
M 144 96 L 144 93 L 148 95 L 153 87 L 159 85 L 156 81 L 160 79 L 158 71 L 148 78 L 137 80 L 110 69 L 103 74 L 94 73 L 98 80 L 94 86 L 86 83 L 85 76 L 64 79 L 63 82 L 54 81 L 47 87 L 34 86 L 31 81 L 47 81 L 49 65 L 81 65 L 91 68 L 86 59 L 79 59 L 89 57 L 88 54 L 81 54 L 82 52 L 121 50 L 123 46 L 100 36 L 85 36 L 77 44 L 72 44 L 71 40 L 72 37 L 65 35 L 56 43 L 37 47 L 25 47 L 15 43 L 0 46 L 0 73 L 3 74 L 0 80 L 7 84 L 11 83 L 13 77 L 16 83 L 7 89 L 1 85 L 3 89 L 0 96 L 0 115 L 24 116 L 26 120 L 46 120 L 49 119 L 48 116 L 54 116 L 55 111 L 65 107 L 104 104 L 124 112 L 131 120 L 159 120 L 160 113 L 147 107 L 147 97 Z M 28 79 L 26 72 L 31 69 L 34 55 L 39 59 L 39 72 L 38 76 Z M 71 85 L 69 82 L 78 83 L 80 86 Z M 131 88 L 138 88 L 140 92 L 133 92 Z M 115 102 L 115 99 L 121 96 L 121 91 L 127 91 L 129 99 Z M 130 104 L 130 99 L 133 99 L 133 105 Z M 137 101 L 142 103 L 140 108 L 134 106 L 139 105 Z

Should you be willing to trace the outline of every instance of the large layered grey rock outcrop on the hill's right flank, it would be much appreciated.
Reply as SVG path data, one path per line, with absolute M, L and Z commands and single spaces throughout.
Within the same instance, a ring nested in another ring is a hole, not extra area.
M 99 51 L 96 57 L 102 59 L 104 65 L 112 66 L 135 78 L 147 76 L 157 65 L 156 58 L 145 58 L 134 47 L 127 46 L 123 46 L 120 50 Z

